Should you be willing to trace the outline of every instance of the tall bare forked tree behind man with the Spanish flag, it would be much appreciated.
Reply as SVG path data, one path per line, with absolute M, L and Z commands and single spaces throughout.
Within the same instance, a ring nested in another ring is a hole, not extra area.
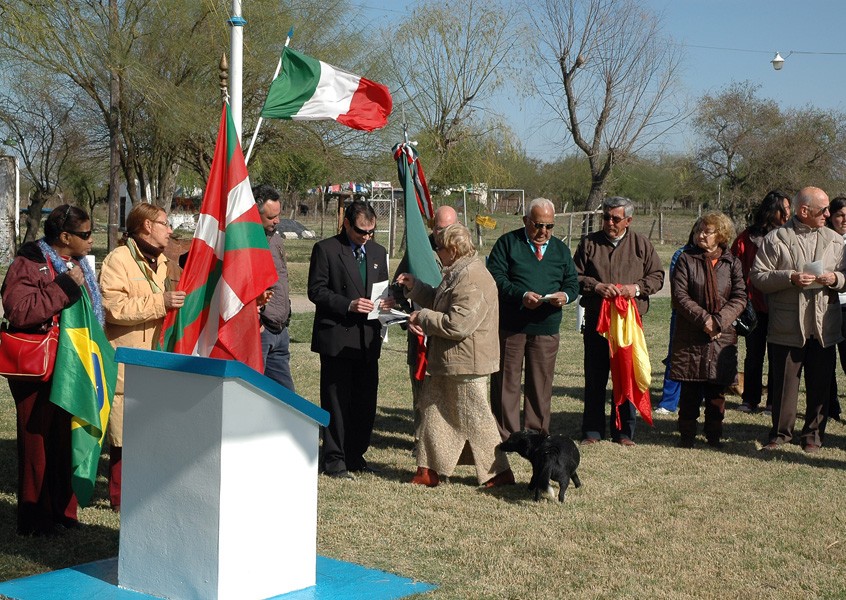
M 672 103 L 681 54 L 634 0 L 539 0 L 527 10 L 545 65 L 536 87 L 587 157 L 589 210 L 616 164 L 683 118 Z

